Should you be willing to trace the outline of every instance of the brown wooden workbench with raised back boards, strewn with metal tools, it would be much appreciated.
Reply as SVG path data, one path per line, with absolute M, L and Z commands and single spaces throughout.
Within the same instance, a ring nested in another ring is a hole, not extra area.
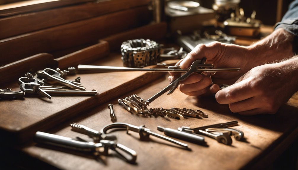
M 77 64 L 122 66 L 119 47 L 123 41 L 144 38 L 160 42 L 166 37 L 167 23 L 150 23 L 151 12 L 147 10 L 150 0 L 78 2 L 69 6 L 60 4 L 57 8 L 59 1 L 53 1 L 52 6 L 20 7 L 19 11 L 0 9 L 3 17 L 0 23 L 5 25 L 0 29 L 3 33 L 0 52 L 4 56 L 0 61 L 1 89 L 18 91 L 18 78 L 29 70 L 64 69 Z M 23 15 L 24 11 L 31 13 Z M 238 39 L 237 43 L 249 45 L 252 41 Z M 167 64 L 176 62 L 167 61 Z M 6 155 L 1 161 L 14 165 L 22 160 L 30 169 L 265 169 L 298 137 L 297 94 L 277 114 L 248 117 L 230 112 L 227 105 L 218 104 L 214 97 L 190 97 L 176 90 L 171 95 L 162 95 L 149 107 L 199 109 L 209 117 L 150 118 L 129 113 L 118 105 L 118 99 L 132 94 L 150 98 L 167 86 L 167 73 L 78 73 L 67 79 L 78 76 L 83 86 L 96 89 L 97 95 L 52 96 L 52 100 L 26 95 L 24 100 L 0 101 L 0 136 L 5 139 L 0 140 L 0 149 Z M 242 130 L 245 139 L 232 138 L 231 146 L 208 137 L 205 137 L 206 145 L 179 140 L 189 144 L 191 150 L 186 150 L 154 136 L 141 141 L 135 132 L 113 132 L 119 143 L 137 152 L 136 164 L 113 154 L 96 159 L 92 154 L 36 144 L 32 140 L 36 131 L 91 140 L 72 131 L 69 124 L 77 122 L 100 130 L 112 123 L 109 103 L 114 105 L 117 122 L 146 125 L 159 134 L 163 133 L 157 126 L 177 129 L 237 120 L 238 126 L 233 128 Z

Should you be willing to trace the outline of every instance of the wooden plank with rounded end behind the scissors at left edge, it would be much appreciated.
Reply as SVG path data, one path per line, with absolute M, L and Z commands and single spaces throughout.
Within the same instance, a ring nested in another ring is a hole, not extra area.
M 48 53 L 40 53 L 34 56 L 30 56 L 19 61 L 0 66 L 0 85 L 11 81 L 18 80 L 18 78 L 24 76 L 28 72 L 36 72 L 45 67 L 57 67 L 57 62 L 54 61 L 54 57 Z M 10 88 L 1 87 L 1 89 Z

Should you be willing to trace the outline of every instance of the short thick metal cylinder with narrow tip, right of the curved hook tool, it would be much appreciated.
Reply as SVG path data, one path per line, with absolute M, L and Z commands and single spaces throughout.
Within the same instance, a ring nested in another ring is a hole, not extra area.
M 195 134 L 181 132 L 179 130 L 175 130 L 175 129 L 171 129 L 171 128 L 167 128 L 167 127 L 161 127 L 161 126 L 157 126 L 157 130 L 163 131 L 165 135 L 171 136 L 174 138 L 180 138 L 180 139 L 184 139 L 187 141 L 192 141 L 192 142 L 200 143 L 200 144 L 205 143 L 204 137 L 198 136 Z

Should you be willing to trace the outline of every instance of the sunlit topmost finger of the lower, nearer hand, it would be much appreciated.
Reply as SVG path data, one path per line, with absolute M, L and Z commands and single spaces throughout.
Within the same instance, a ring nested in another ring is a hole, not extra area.
M 229 104 L 257 96 L 259 92 L 252 90 L 249 86 L 249 81 L 250 78 L 219 90 L 215 94 L 217 102 L 220 104 Z

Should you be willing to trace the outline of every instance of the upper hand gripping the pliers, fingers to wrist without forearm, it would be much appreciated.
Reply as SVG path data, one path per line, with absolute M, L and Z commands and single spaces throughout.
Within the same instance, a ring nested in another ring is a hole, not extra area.
M 190 67 L 190 65 L 198 59 L 207 58 L 206 63 L 214 64 L 215 68 L 241 68 L 237 72 L 218 72 L 212 76 L 194 73 L 184 81 L 181 81 L 179 89 L 181 92 L 190 96 L 200 96 L 210 93 L 209 86 L 212 83 L 233 84 L 241 75 L 249 71 L 255 66 L 253 62 L 253 54 L 248 47 L 239 45 L 225 44 L 219 42 L 209 43 L 207 45 L 199 44 L 193 51 L 187 54 L 176 65 L 182 69 Z M 177 73 L 170 73 L 169 82 L 179 76 Z M 219 86 L 214 84 L 210 88 L 212 93 L 219 90 Z

